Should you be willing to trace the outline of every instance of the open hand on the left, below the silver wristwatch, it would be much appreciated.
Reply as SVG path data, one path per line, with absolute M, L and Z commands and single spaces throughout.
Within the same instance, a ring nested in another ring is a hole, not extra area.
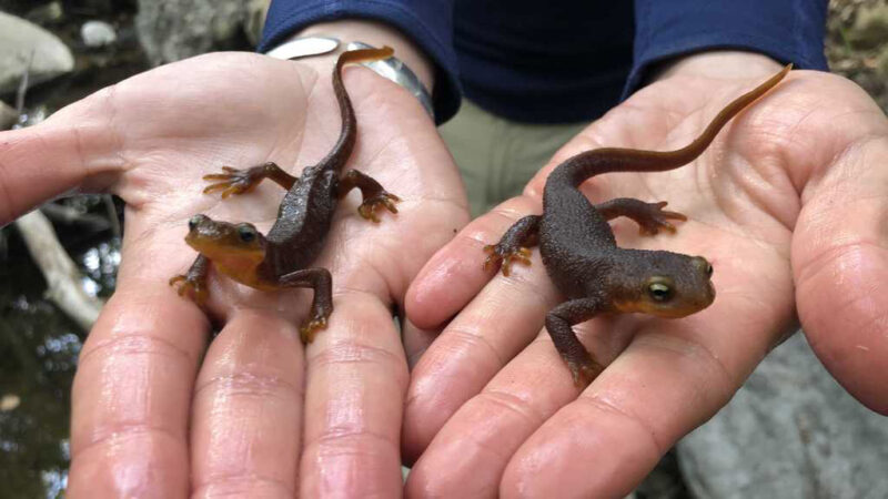
M 336 309 L 304 350 L 309 291 L 263 293 L 211 272 L 221 333 L 206 349 L 211 323 L 168 285 L 195 256 L 183 241 L 192 215 L 265 232 L 284 195 L 269 182 L 222 201 L 201 193 L 203 174 L 265 161 L 297 173 L 333 146 L 331 71 L 332 59 L 210 54 L 0 134 L 0 223 L 73 189 L 127 203 L 118 288 L 74 379 L 68 497 L 400 492 L 407 367 L 392 308 L 467 221 L 456 170 L 412 95 L 344 70 L 357 116 L 347 166 L 403 201 L 380 224 L 357 215 L 356 194 L 340 204 L 316 262 L 333 274 Z

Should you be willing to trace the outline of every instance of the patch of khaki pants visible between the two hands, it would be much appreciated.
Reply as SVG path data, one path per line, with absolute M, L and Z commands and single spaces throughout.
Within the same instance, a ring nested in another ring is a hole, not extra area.
M 517 123 L 464 100 L 438 132 L 460 166 L 475 217 L 521 194 L 555 151 L 586 125 Z

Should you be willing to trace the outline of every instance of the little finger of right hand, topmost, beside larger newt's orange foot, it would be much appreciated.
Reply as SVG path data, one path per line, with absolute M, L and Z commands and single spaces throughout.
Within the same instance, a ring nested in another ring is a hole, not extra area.
M 484 246 L 498 242 L 512 223 L 531 213 L 539 213 L 537 202 L 512 198 L 472 221 L 435 253 L 407 289 L 411 322 L 433 329 L 460 312 L 492 277 L 491 272 L 482 272 Z

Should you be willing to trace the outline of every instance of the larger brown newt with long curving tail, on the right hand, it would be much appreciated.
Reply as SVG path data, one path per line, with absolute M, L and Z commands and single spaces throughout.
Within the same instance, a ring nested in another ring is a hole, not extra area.
M 546 272 L 567 298 L 546 315 L 546 329 L 567 363 L 574 384 L 585 387 L 604 369 L 586 350 L 573 325 L 602 313 L 639 312 L 677 318 L 715 301 L 713 266 L 702 256 L 666 251 L 620 248 L 607 221 L 626 216 L 643 234 L 674 232 L 669 220 L 687 220 L 664 211 L 666 202 L 616 198 L 593 205 L 579 192 L 587 179 L 607 172 L 663 172 L 694 161 L 740 110 L 774 88 L 793 68 L 787 65 L 754 90 L 737 98 L 713 119 L 689 145 L 677 151 L 596 149 L 559 164 L 546 180 L 543 214 L 518 220 L 500 243 L 484 247 L 484 268 L 502 262 L 508 275 L 514 261 L 529 264 L 529 247 L 539 244 Z

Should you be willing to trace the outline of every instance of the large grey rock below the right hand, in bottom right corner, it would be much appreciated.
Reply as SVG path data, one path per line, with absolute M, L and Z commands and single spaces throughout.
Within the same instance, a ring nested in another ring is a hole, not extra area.
M 848 395 L 801 334 L 683 439 L 678 457 L 698 498 L 888 497 L 888 419 Z

